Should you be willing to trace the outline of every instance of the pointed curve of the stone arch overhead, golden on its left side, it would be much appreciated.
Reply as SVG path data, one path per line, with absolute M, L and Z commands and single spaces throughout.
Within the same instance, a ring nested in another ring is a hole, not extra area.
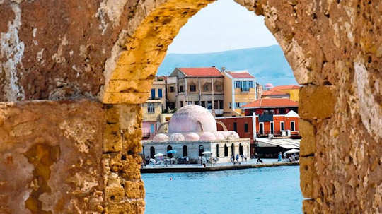
M 132 35 L 120 35 L 120 43 L 112 51 L 112 57 L 105 64 L 105 85 L 100 91 L 100 100 L 104 103 L 141 103 L 149 96 L 151 83 L 156 70 L 166 55 L 168 45 L 178 34 L 187 20 L 200 9 L 214 0 L 167 0 L 153 4 L 145 1 L 146 16 L 139 17 L 137 28 Z M 265 25 L 286 53 L 286 57 L 295 72 L 299 83 L 310 83 L 306 72 L 309 66 L 308 57 L 303 55 L 304 49 L 294 40 L 289 23 L 283 23 L 282 16 L 270 3 L 265 1 L 236 0 L 257 15 L 265 16 Z M 290 13 L 293 6 L 285 2 Z M 278 24 L 278 25 L 277 25 Z M 286 30 L 279 25 L 285 25 Z M 303 29 L 306 30 L 306 29 Z M 322 55 L 322 54 L 321 54 Z

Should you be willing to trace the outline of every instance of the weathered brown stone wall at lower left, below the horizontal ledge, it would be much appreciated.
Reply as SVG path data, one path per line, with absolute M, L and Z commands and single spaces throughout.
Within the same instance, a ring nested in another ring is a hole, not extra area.
M 141 109 L 0 104 L 0 213 L 143 213 Z

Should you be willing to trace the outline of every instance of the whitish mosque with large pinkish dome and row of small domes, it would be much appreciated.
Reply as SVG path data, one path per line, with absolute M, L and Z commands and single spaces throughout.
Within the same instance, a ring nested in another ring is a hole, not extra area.
M 224 131 L 217 131 L 217 125 Z M 180 108 L 169 122 L 168 133 L 159 132 L 152 141 L 142 141 L 145 157 L 154 158 L 157 153 L 168 157 L 189 157 L 197 162 L 204 152 L 211 152 L 217 162 L 229 162 L 231 155 L 250 154 L 250 139 L 240 138 L 235 131 L 228 131 L 221 121 L 216 121 L 211 112 L 199 105 L 186 105 Z M 175 150 L 176 153 L 168 153 Z

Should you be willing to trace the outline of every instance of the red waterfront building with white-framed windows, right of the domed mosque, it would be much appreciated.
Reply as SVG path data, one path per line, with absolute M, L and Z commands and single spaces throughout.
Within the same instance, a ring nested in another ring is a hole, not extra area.
M 301 138 L 298 104 L 289 99 L 259 99 L 243 106 L 243 117 L 221 117 L 216 120 L 224 123 L 227 129 L 236 131 L 241 138 L 250 138 L 251 155 L 262 153 L 274 157 L 280 151 L 284 153 L 299 146 L 298 140 L 294 140 Z M 269 136 L 272 139 L 264 139 Z M 294 146 L 277 138 L 293 138 L 290 141 Z

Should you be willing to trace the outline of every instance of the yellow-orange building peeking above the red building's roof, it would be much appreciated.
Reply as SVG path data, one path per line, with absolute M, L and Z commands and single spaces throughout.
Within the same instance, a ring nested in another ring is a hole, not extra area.
M 279 85 L 262 93 L 262 98 L 287 98 L 299 102 L 299 85 Z

